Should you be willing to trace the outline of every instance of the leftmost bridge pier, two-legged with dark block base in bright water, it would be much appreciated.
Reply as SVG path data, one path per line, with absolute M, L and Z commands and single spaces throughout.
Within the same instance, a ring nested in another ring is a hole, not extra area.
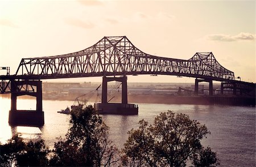
M 17 110 L 17 97 L 29 95 L 36 97 L 36 110 Z M 44 112 L 42 102 L 42 82 L 40 80 L 11 80 L 11 126 L 43 126 Z

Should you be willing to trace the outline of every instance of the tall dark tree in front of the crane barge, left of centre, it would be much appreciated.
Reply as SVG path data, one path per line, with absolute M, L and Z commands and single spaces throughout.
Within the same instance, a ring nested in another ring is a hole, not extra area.
M 71 127 L 65 140 L 55 143 L 50 164 L 55 166 L 116 165 L 118 149 L 109 140 L 109 127 L 91 106 L 71 111 Z

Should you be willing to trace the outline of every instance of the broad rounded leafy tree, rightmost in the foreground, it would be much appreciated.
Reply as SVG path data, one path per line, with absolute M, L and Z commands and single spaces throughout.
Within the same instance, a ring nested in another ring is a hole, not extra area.
M 144 120 L 139 125 L 139 129 L 129 131 L 123 165 L 186 166 L 188 159 L 195 166 L 218 165 L 216 153 L 200 143 L 210 132 L 188 115 L 168 111 L 157 116 L 152 125 Z

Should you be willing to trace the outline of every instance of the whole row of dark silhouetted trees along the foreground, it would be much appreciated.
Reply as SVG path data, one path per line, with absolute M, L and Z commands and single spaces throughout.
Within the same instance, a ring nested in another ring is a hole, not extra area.
M 50 150 L 43 140 L 18 135 L 0 145 L 1 166 L 217 166 L 216 153 L 200 140 L 210 132 L 185 114 L 161 113 L 152 125 L 139 121 L 123 149 L 109 139 L 109 127 L 92 107 L 71 111 L 71 127 Z

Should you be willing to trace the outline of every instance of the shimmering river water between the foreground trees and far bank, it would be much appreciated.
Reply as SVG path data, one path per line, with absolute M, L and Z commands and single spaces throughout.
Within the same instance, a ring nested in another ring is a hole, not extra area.
M 35 109 L 35 100 L 19 99 L 17 109 Z M 73 101 L 43 101 L 45 125 L 38 127 L 10 127 L 8 114 L 10 99 L 0 97 L 0 142 L 5 143 L 19 132 L 24 139 L 41 138 L 52 147 L 57 137 L 65 137 L 69 128 L 69 115 L 57 113 Z M 127 140 L 127 132 L 138 127 L 138 121 L 154 121 L 156 115 L 167 110 L 188 114 L 208 127 L 211 132 L 202 144 L 217 152 L 221 166 L 255 166 L 255 108 L 220 105 L 138 104 L 138 115 L 102 115 L 110 127 L 110 137 L 119 147 Z

